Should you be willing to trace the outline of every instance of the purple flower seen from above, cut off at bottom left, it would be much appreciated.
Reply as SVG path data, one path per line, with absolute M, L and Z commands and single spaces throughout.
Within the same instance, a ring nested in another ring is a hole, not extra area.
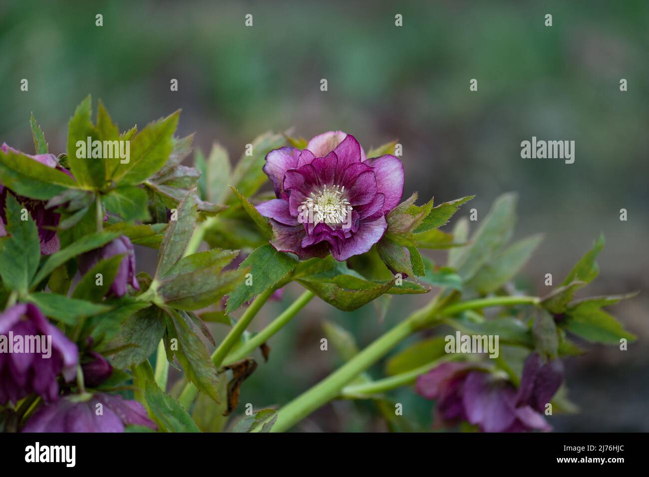
M 42 406 L 21 432 L 124 432 L 127 425 L 157 429 L 139 402 L 96 393 L 70 395 L 56 404 Z

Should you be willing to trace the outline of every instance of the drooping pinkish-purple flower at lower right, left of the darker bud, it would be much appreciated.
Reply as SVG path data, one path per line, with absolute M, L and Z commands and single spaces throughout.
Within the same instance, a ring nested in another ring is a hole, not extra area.
M 517 404 L 511 382 L 471 363 L 443 363 L 417 378 L 423 397 L 437 400 L 437 421 L 468 421 L 482 432 L 549 431 L 543 415 L 527 403 Z

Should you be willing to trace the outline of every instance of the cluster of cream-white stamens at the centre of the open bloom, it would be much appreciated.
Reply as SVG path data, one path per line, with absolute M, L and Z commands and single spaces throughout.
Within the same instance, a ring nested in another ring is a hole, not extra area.
M 351 212 L 352 206 L 345 197 L 345 186 L 324 186 L 312 192 L 300 206 L 300 214 L 308 215 L 303 217 L 302 223 L 313 225 L 321 222 L 327 225 L 347 223 Z

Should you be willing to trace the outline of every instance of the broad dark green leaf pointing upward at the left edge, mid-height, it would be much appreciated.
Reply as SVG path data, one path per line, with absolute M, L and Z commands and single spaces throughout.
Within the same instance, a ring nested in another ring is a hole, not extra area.
M 40 260 L 38 227 L 12 194 L 6 194 L 5 202 L 6 236 L 0 238 L 0 276 L 5 287 L 25 293 Z M 23 211 L 27 218 L 24 221 Z

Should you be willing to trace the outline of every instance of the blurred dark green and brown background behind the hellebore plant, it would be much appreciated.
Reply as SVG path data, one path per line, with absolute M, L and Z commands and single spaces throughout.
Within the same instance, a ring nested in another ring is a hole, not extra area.
M 524 271 L 533 291 L 543 295 L 545 273 L 561 280 L 604 232 L 590 294 L 644 292 L 613 309 L 639 340 L 625 352 L 591 345 L 590 354 L 568 360 L 569 395 L 582 412 L 551 423 L 566 431 L 649 431 L 648 2 L 89 4 L 0 3 L 0 142 L 31 152 L 34 112 L 50 150 L 62 152 L 67 120 L 92 93 L 122 129 L 182 108 L 178 134 L 197 132 L 203 151 L 219 141 L 235 158 L 265 130 L 295 127 L 296 136 L 310 138 L 341 129 L 365 149 L 398 138 L 404 193 L 436 202 L 477 194 L 478 218 L 497 195 L 518 191 L 517 236 L 546 234 Z M 98 13 L 103 27 L 95 26 Z M 244 26 L 249 13 L 253 27 Z M 395 27 L 397 13 L 403 27 Z M 547 13 L 552 27 L 544 25 Z M 23 78 L 29 92 L 19 89 Z M 178 92 L 169 90 L 172 78 Z M 469 91 L 473 78 L 478 92 Z M 619 90 L 622 78 L 627 92 Z M 520 158 L 520 141 L 532 136 L 574 140 L 574 164 Z M 620 208 L 628 221 L 619 220 Z M 140 252 L 138 268 L 147 269 L 154 255 Z M 299 292 L 289 287 L 254 328 Z M 319 350 L 324 319 L 366 345 L 426 299 L 396 297 L 384 320 L 371 305 L 344 313 L 313 300 L 269 342 L 271 360 L 245 382 L 241 403 L 286 403 L 336 369 L 335 353 Z M 380 365 L 372 370 L 380 372 Z M 430 402 L 410 388 L 391 397 L 408 419 L 430 426 Z M 370 403 L 334 402 L 300 429 L 386 424 Z

